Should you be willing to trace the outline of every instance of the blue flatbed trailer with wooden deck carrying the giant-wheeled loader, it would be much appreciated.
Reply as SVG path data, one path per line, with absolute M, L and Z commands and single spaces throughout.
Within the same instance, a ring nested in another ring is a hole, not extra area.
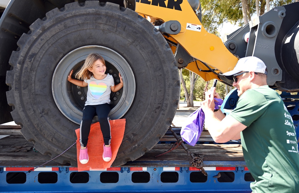
M 135 161 L 84 172 L 35 152 L 18 126 L 2 126 L 0 136 L 1 192 L 251 192 L 254 181 L 241 144 L 216 144 L 208 131 L 203 131 L 194 147 L 186 144 L 193 154 L 204 155 L 206 176 L 190 164 L 191 158 L 180 145 L 155 157 L 176 144 L 169 133 Z

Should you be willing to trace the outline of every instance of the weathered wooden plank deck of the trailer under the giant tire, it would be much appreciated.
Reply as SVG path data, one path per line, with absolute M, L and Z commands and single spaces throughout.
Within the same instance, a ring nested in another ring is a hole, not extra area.
M 42 155 L 33 150 L 33 143 L 26 141 L 20 132 L 19 126 L 1 126 L 0 128 L 0 167 L 31 167 L 39 166 L 49 161 L 49 155 Z M 1 138 L 2 136 L 2 138 Z M 161 166 L 183 166 L 189 167 L 190 157 L 187 152 L 179 146 L 175 150 L 159 157 L 155 155 L 167 151 L 176 141 L 173 135 L 166 134 L 150 151 L 135 161 L 129 161 L 121 167 L 155 167 Z M 208 131 L 203 131 L 199 144 L 194 147 L 187 145 L 188 149 L 197 154 L 204 155 L 204 167 L 236 166 L 245 167 L 241 144 L 216 144 Z M 229 164 L 234 162 L 233 164 Z M 59 164 L 51 161 L 45 166 L 63 167 L 70 164 Z

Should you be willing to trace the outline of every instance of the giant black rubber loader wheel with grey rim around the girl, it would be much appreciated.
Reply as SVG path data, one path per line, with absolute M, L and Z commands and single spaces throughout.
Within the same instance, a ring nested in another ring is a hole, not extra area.
M 111 119 L 126 119 L 112 166 L 135 160 L 166 133 L 179 99 L 179 75 L 169 45 L 136 12 L 112 3 L 66 4 L 36 20 L 10 57 L 6 82 L 14 121 L 36 150 L 56 157 L 76 140 L 86 88 L 67 81 L 91 52 L 101 54 L 108 73 L 123 88 L 111 95 Z M 55 161 L 77 165 L 76 147 Z

